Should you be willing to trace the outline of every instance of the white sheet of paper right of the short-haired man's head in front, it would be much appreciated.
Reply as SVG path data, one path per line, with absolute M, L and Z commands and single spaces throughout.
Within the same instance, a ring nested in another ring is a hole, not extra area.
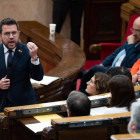
M 91 108 L 90 109 L 90 115 L 95 116 L 95 115 L 102 115 L 106 111 L 107 107 L 102 106 L 102 107 L 97 107 L 97 108 Z

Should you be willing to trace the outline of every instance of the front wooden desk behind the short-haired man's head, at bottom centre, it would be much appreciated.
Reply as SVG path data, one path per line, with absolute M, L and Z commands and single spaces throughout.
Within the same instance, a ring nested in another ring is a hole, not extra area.
M 130 112 L 52 119 L 52 128 L 44 128 L 42 140 L 107 140 L 112 134 L 127 133 L 127 117 Z

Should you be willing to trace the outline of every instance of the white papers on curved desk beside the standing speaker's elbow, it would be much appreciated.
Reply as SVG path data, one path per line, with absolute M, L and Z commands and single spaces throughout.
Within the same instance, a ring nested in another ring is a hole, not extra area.
M 42 85 L 49 85 L 50 83 L 58 80 L 59 77 L 52 77 L 52 76 L 44 76 L 43 79 L 41 81 L 36 81 L 34 79 L 30 79 L 31 83 L 34 84 L 42 84 Z

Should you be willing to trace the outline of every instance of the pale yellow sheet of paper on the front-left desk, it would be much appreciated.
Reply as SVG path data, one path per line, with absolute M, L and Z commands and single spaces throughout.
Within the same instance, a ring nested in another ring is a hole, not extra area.
M 50 115 L 34 116 L 34 118 L 40 122 L 48 122 L 48 121 L 51 121 L 51 119 L 58 119 L 61 117 L 57 114 L 50 114 Z

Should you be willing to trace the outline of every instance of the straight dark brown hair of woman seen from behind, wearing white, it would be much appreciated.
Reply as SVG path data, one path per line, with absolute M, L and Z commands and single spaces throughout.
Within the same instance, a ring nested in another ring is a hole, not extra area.
M 113 76 L 108 82 L 111 92 L 110 107 L 127 107 L 136 100 L 132 81 L 125 75 Z

